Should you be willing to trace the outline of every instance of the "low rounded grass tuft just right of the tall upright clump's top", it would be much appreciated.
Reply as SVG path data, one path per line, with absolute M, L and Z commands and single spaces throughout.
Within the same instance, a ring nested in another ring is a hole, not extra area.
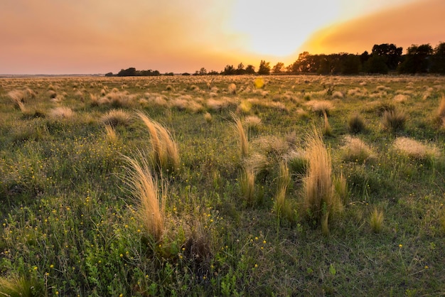
M 364 163 L 374 161 L 376 156 L 372 148 L 358 137 L 345 136 L 345 144 L 341 147 L 343 161 Z

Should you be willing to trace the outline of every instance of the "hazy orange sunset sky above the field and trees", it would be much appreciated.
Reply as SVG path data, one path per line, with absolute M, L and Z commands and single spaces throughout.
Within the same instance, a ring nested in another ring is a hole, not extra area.
M 444 0 L 1 0 L 0 74 L 220 71 L 445 41 Z

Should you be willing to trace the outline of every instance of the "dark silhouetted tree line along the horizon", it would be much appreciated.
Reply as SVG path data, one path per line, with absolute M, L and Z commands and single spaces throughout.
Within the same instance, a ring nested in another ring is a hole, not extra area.
M 207 71 L 205 68 L 196 70 L 192 75 L 358 75 L 363 74 L 445 74 L 445 43 L 432 47 L 429 43 L 411 45 L 402 55 L 403 49 L 393 43 L 375 44 L 371 53 L 359 54 L 334 53 L 330 55 L 311 55 L 309 52 L 299 54 L 299 58 L 291 65 L 285 66 L 279 62 L 271 67 L 269 62 L 261 60 L 259 68 L 255 71 L 254 65 L 240 63 L 235 68 L 226 65 L 224 70 Z M 128 68 L 120 70 L 117 75 L 112 72 L 105 76 L 156 76 L 161 75 L 158 70 L 136 70 Z M 164 75 L 173 75 L 168 72 Z M 188 72 L 182 75 L 191 75 Z

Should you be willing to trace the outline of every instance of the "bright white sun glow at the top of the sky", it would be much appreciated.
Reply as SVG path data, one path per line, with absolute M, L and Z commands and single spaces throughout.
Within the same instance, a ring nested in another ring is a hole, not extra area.
M 284 57 L 296 53 L 311 33 L 338 18 L 338 1 L 314 0 L 235 3 L 232 28 L 255 54 Z

